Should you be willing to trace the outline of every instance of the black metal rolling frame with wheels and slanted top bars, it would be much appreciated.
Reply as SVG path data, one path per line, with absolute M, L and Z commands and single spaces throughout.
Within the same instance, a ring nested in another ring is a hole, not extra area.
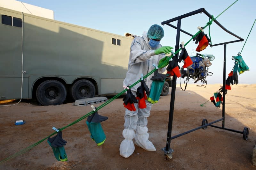
M 198 13 L 204 13 L 206 16 L 208 16 L 210 19 L 212 18 L 212 15 L 210 13 L 208 13 L 204 8 L 200 8 L 196 11 L 192 11 L 192 12 L 189 12 L 187 14 L 184 14 L 184 15 L 181 15 L 179 17 L 175 17 L 175 18 L 172 18 L 172 19 L 169 19 L 167 21 L 163 21 L 161 24 L 162 25 L 168 25 L 168 26 L 171 26 L 172 28 L 175 28 L 177 29 L 177 33 L 176 33 L 176 45 L 175 45 L 175 51 L 177 51 L 179 48 L 180 48 L 180 32 L 182 33 L 185 33 L 185 34 L 188 34 L 190 36 L 194 36 L 193 34 L 190 34 L 182 29 L 180 29 L 180 26 L 181 26 L 181 19 L 182 18 L 186 18 L 186 17 L 189 17 L 189 16 L 192 16 L 192 15 L 195 15 L 195 14 L 198 14 Z M 177 27 L 176 26 L 173 26 L 172 24 L 170 24 L 171 22 L 173 21 L 177 21 Z M 164 147 L 162 150 L 164 151 L 165 155 L 168 156 L 169 158 L 172 158 L 172 152 L 173 152 L 173 149 L 170 148 L 170 144 L 171 144 L 171 139 L 175 139 L 177 137 L 180 137 L 180 136 L 183 136 L 185 134 L 188 134 L 190 132 L 193 132 L 195 130 L 198 130 L 200 128 L 203 128 L 203 129 L 206 129 L 207 126 L 211 126 L 211 127 L 214 127 L 214 128 L 219 128 L 219 129 L 224 129 L 224 130 L 229 130 L 229 131 L 232 131 L 232 132 L 236 132 L 236 133 L 241 133 L 241 134 L 244 134 L 244 131 L 238 131 L 238 130 L 233 130 L 233 129 L 227 129 L 225 128 L 225 85 L 226 85 L 226 50 L 227 50 L 227 44 L 229 43 L 234 43 L 234 42 L 239 42 L 239 41 L 244 41 L 243 38 L 237 36 L 236 34 L 230 32 L 229 30 L 227 30 L 224 26 L 222 26 L 216 19 L 213 21 L 215 22 L 218 26 L 220 26 L 220 28 L 222 28 L 224 31 L 226 31 L 227 33 L 235 36 L 236 38 L 238 38 L 239 40 L 236 40 L 236 41 L 228 41 L 228 42 L 223 42 L 223 43 L 219 43 L 219 44 L 214 44 L 214 45 L 211 45 L 211 47 L 213 46 L 219 46 L 219 45 L 224 45 L 224 61 L 223 61 L 223 101 L 222 101 L 222 118 L 219 119 L 219 120 L 216 120 L 216 121 L 213 121 L 213 122 L 210 122 L 208 123 L 206 119 L 203 120 L 202 122 L 202 126 L 199 126 L 195 129 L 191 129 L 187 132 L 184 132 L 184 133 L 181 133 L 179 135 L 176 135 L 176 136 L 173 136 L 171 137 L 172 135 L 172 121 L 173 121 L 173 108 L 174 108 L 174 100 L 175 100 L 175 91 L 176 91 L 176 80 L 177 80 L 177 77 L 174 75 L 172 77 L 172 92 L 171 92 L 171 101 L 170 101 L 170 112 L 169 112 L 169 123 L 168 123 L 168 131 L 167 131 L 167 141 L 166 141 L 166 147 Z M 178 57 L 179 54 L 175 55 L 174 57 Z M 206 122 L 205 122 L 206 120 Z M 212 125 L 213 123 L 216 123 L 216 122 L 220 122 L 222 121 L 222 126 L 221 127 L 218 127 L 218 126 L 214 126 Z M 247 131 L 248 131 L 248 128 L 247 128 Z M 249 131 L 248 131 L 248 134 L 249 134 Z M 248 135 L 247 134 L 247 135 Z M 247 140 L 247 139 L 245 139 Z

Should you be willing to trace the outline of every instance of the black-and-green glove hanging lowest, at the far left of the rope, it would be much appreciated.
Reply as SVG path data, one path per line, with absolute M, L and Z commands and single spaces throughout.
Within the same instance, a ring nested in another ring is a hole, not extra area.
M 47 143 L 52 147 L 53 154 L 58 161 L 67 161 L 68 157 L 65 152 L 64 145 L 67 141 L 62 139 L 62 131 L 57 132 L 57 135 L 48 138 Z

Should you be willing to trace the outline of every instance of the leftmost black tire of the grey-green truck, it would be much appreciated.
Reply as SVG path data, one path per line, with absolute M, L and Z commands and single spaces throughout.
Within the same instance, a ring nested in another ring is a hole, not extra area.
M 46 80 L 36 89 L 36 99 L 41 105 L 60 105 L 66 99 L 66 87 L 57 80 Z

